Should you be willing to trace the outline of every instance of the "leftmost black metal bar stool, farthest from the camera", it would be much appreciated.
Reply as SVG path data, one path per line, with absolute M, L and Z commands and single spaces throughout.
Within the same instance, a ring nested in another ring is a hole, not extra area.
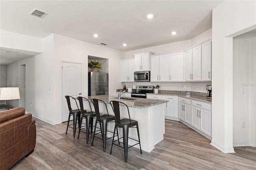
M 77 123 L 77 119 L 78 119 L 78 128 L 80 127 L 80 115 L 81 115 L 81 111 L 78 108 L 78 104 L 76 102 L 76 99 L 73 98 L 72 96 L 65 96 L 67 103 L 68 103 L 68 110 L 69 110 L 69 115 L 68 115 L 68 125 L 67 125 L 67 130 L 66 130 L 66 134 L 68 132 L 68 127 L 73 129 L 73 135 L 74 137 L 76 136 L 76 123 Z M 73 110 L 70 104 L 70 99 L 74 100 L 76 102 L 76 106 L 77 109 Z M 71 125 L 69 125 L 69 121 L 70 121 L 70 116 L 73 115 L 73 127 L 71 127 Z

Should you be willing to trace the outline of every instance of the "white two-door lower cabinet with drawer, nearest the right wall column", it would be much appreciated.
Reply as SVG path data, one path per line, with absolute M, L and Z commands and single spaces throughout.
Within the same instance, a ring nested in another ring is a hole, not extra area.
M 202 133 L 211 136 L 211 104 L 192 100 L 191 105 L 191 125 L 200 130 Z

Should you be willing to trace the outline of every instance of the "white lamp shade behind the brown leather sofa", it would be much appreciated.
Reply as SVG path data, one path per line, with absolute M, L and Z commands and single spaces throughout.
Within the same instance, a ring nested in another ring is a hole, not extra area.
M 1 87 L 0 100 L 16 100 L 20 99 L 20 91 L 18 87 Z

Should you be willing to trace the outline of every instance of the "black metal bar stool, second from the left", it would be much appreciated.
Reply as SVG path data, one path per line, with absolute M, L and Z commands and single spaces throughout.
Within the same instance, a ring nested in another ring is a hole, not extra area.
M 77 139 L 79 139 L 79 135 L 80 135 L 81 127 L 82 127 L 82 121 L 83 121 L 83 117 L 84 117 L 86 119 L 86 143 L 88 143 L 89 142 L 90 127 L 91 127 L 91 133 L 92 133 L 93 117 L 95 117 L 96 114 L 95 114 L 94 111 L 92 111 L 92 107 L 91 107 L 91 104 L 90 104 L 88 99 L 86 99 L 84 97 L 80 97 L 80 96 L 77 97 L 77 99 L 79 101 L 80 109 L 81 109 L 81 121 L 80 121 L 79 133 L 78 133 Z M 83 99 L 86 100 L 89 103 L 90 111 L 88 111 L 88 112 L 84 112 Z

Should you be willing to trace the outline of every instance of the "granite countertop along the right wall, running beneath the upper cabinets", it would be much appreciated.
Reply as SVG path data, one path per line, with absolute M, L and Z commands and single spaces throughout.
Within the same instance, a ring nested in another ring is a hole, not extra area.
M 178 94 L 178 93 L 168 93 L 168 92 L 160 92 L 158 94 L 156 93 L 147 93 L 147 94 L 155 94 L 155 95 L 169 95 L 169 96 L 178 96 L 181 98 L 187 98 L 187 99 L 193 99 L 193 100 L 198 100 L 201 102 L 208 102 L 208 103 L 212 103 L 212 99 L 206 98 L 206 96 L 198 96 L 198 95 L 194 95 L 194 94 Z

